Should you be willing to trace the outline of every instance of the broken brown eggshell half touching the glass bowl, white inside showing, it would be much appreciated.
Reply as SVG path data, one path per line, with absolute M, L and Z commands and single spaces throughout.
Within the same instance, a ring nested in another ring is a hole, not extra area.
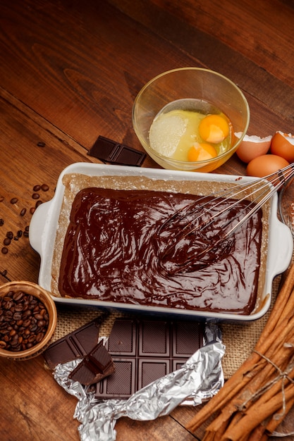
M 235 133 L 235 136 L 240 137 L 240 134 Z M 266 154 L 269 151 L 270 145 L 271 136 L 260 138 L 256 135 L 245 135 L 243 140 L 240 142 L 236 154 L 241 161 L 249 163 L 257 156 Z

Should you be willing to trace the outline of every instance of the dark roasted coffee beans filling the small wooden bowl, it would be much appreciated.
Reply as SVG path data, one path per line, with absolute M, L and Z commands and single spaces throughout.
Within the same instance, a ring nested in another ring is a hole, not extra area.
M 17 352 L 35 346 L 42 341 L 48 325 L 47 309 L 37 297 L 23 291 L 10 291 L 0 298 L 2 349 Z

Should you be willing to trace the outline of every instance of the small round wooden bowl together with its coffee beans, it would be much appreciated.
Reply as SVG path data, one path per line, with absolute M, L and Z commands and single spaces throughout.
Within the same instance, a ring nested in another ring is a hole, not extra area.
M 57 311 L 39 285 L 8 282 L 0 287 L 0 356 L 27 360 L 41 354 L 56 328 Z

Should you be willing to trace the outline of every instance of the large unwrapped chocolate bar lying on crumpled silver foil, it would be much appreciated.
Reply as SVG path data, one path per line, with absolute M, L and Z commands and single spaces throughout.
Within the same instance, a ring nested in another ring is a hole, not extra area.
M 127 399 L 179 369 L 202 347 L 203 325 L 192 321 L 118 318 L 106 348 L 115 372 L 97 383 L 97 399 Z

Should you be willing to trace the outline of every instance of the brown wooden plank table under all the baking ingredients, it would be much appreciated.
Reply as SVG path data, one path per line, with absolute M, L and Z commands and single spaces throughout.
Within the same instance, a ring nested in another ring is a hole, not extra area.
M 204 66 L 231 78 L 250 104 L 248 134 L 293 132 L 294 1 L 1 0 L 0 226 L 30 224 L 33 187 L 51 199 L 61 170 L 87 156 L 99 135 L 141 149 L 132 128 L 137 92 L 155 75 Z M 145 167 L 157 167 L 149 158 Z M 217 173 L 245 173 L 233 156 Z M 11 199 L 18 199 L 11 204 Z M 3 198 L 3 200 L 2 200 Z M 23 216 L 21 211 L 26 209 Z M 0 282 L 37 282 L 27 237 L 0 253 Z M 0 361 L 1 440 L 78 440 L 76 400 L 42 356 Z M 122 418 L 117 440 L 195 440 L 183 426 L 195 409 L 157 421 Z

